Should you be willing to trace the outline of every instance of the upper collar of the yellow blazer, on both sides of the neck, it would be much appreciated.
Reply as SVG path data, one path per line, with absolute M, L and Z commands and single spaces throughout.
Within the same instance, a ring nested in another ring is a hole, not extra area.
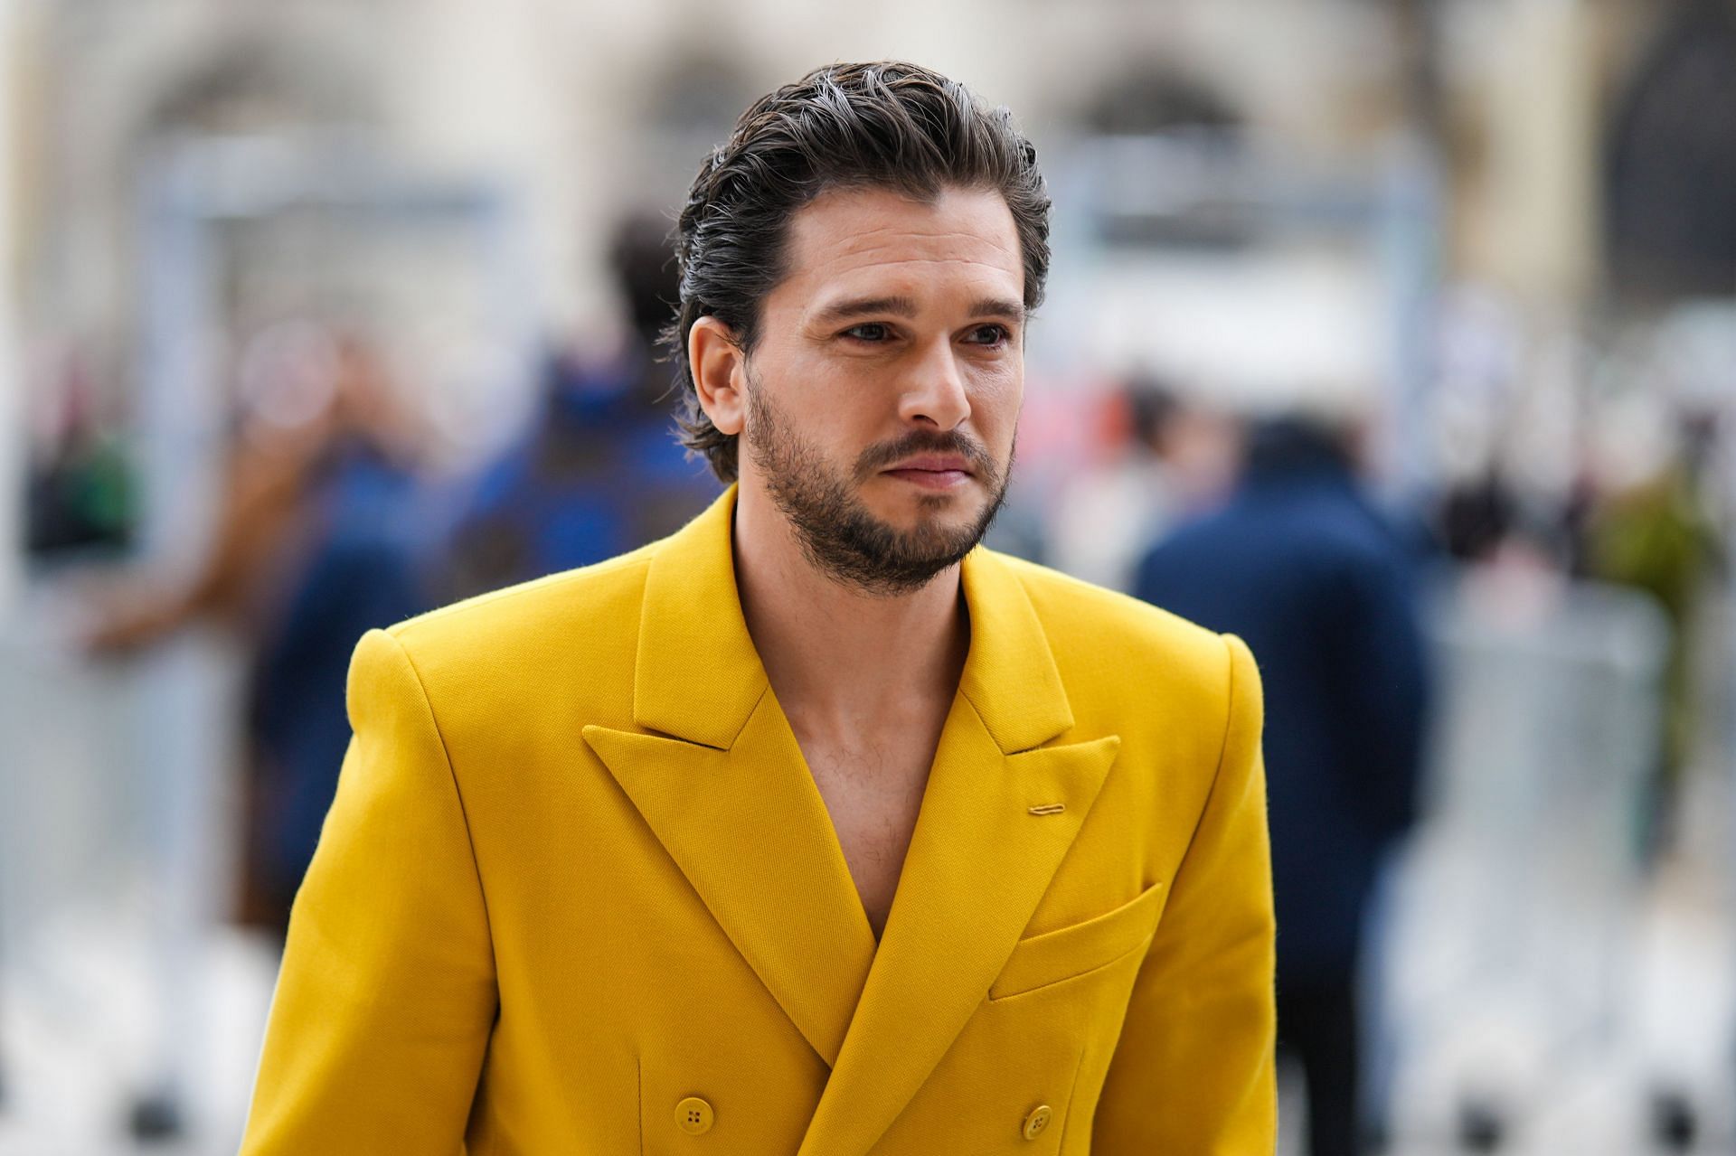
M 766 694 L 766 668 L 736 588 L 736 486 L 663 542 L 646 575 L 634 722 L 729 750 Z M 981 547 L 962 564 L 970 653 L 958 689 L 1003 753 L 1073 726 L 1042 621 L 1012 568 Z

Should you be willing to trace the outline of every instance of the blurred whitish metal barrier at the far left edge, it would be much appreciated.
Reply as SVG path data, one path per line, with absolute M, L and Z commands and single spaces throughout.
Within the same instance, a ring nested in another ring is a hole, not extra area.
M 203 967 L 238 877 L 240 663 L 196 632 L 92 663 L 56 609 L 0 623 L 0 1017 L 101 1057 L 61 1090 L 83 1120 L 33 1104 L 28 1080 L 10 1104 L 95 1140 L 128 1097 L 135 1128 L 179 1125 L 208 1036 Z

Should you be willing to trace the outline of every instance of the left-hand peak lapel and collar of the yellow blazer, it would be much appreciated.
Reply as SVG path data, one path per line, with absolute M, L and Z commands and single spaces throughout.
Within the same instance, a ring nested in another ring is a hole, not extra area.
M 736 594 L 731 486 L 646 575 L 634 672 L 644 732 L 585 727 L 736 951 L 826 1064 L 873 930 Z

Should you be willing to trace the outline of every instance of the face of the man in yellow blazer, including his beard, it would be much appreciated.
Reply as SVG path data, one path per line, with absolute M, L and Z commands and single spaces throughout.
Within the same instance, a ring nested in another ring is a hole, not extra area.
M 741 484 L 811 562 L 920 587 L 1005 496 L 1024 396 L 1024 267 L 998 193 L 835 189 L 795 213 L 746 365 Z

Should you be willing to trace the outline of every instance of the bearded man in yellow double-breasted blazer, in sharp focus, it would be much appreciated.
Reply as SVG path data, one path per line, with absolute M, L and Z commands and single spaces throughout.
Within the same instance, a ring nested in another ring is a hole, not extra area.
M 1272 1151 L 1253 661 L 974 548 L 1047 212 L 922 68 L 743 115 L 675 326 L 736 484 L 361 642 L 245 1151 Z

